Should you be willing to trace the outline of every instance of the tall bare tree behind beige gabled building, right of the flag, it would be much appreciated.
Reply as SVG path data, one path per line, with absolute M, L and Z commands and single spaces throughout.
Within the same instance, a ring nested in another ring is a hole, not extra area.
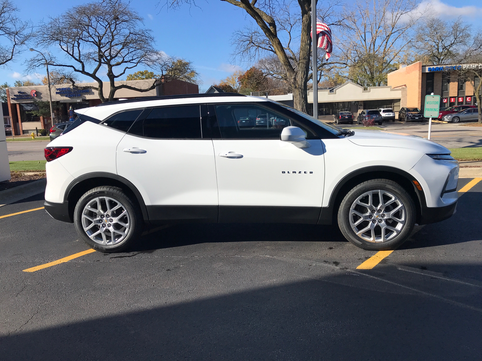
M 337 41 L 350 71 L 363 87 L 387 84 L 387 74 L 406 60 L 412 29 L 422 18 L 416 0 L 357 0 L 346 9 L 348 30 Z

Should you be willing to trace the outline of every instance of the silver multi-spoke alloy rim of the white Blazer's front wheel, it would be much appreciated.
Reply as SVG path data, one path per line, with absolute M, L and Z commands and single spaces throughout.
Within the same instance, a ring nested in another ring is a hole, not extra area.
M 402 232 L 407 214 L 395 194 L 374 190 L 363 193 L 353 202 L 348 218 L 357 236 L 368 242 L 381 243 Z

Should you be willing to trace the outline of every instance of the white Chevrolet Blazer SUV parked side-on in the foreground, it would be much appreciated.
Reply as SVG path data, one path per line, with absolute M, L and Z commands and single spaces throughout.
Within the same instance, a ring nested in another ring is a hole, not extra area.
M 266 98 L 189 94 L 76 113 L 45 149 L 45 209 L 102 252 L 178 222 L 338 223 L 351 243 L 386 250 L 457 203 L 445 147 L 333 128 Z

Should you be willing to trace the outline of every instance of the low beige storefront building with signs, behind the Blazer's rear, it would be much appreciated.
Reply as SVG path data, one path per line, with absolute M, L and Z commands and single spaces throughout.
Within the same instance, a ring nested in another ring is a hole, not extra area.
M 116 85 L 126 84 L 138 89 L 148 89 L 153 80 L 128 80 L 118 81 Z M 55 85 L 51 87 L 52 103 L 54 108 L 54 122 L 67 121 L 69 118 L 68 110 L 73 110 L 95 106 L 101 103 L 98 91 L 89 87 L 97 87 L 97 83 L 82 83 L 82 88 L 73 88 L 70 85 Z M 108 98 L 110 85 L 104 82 L 104 97 Z M 138 91 L 130 89 L 120 89 L 116 91 L 115 100 L 134 99 L 151 96 L 177 95 L 177 94 L 197 94 L 199 87 L 197 84 L 188 83 L 182 80 L 171 80 L 160 82 L 154 89 Z M 48 86 L 38 85 L 32 87 L 7 88 L 8 110 L 13 134 L 29 134 L 36 129 L 48 129 L 51 126 L 50 116 L 33 116 L 30 112 L 39 109 L 38 102 L 49 101 Z

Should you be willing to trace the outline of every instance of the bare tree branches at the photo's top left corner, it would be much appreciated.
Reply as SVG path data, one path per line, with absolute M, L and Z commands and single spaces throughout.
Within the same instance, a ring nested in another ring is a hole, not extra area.
M 32 37 L 30 22 L 20 20 L 17 12 L 12 1 L 0 1 L 0 39 L 3 40 L 3 44 L 0 44 L 0 65 L 11 61 Z

